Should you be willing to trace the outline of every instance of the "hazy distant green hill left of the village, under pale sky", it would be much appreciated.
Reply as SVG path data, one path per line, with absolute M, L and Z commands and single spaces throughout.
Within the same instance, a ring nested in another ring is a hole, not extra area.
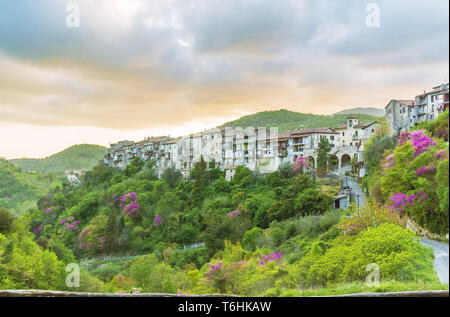
M 11 163 L 23 170 L 33 170 L 40 173 L 64 173 L 65 170 L 91 169 L 98 164 L 107 149 L 99 145 L 73 145 L 62 152 L 42 159 L 14 159 Z

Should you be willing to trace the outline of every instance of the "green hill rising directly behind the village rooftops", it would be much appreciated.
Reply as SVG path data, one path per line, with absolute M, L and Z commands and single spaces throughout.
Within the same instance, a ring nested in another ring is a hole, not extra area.
M 337 128 L 346 122 L 347 114 L 317 115 L 312 113 L 300 113 L 289 110 L 263 111 L 252 115 L 244 116 L 240 119 L 227 122 L 222 127 L 278 127 L 278 132 L 293 130 L 303 127 L 305 129 L 315 129 L 322 127 Z M 361 114 L 359 120 L 368 123 L 379 120 L 379 117 Z

